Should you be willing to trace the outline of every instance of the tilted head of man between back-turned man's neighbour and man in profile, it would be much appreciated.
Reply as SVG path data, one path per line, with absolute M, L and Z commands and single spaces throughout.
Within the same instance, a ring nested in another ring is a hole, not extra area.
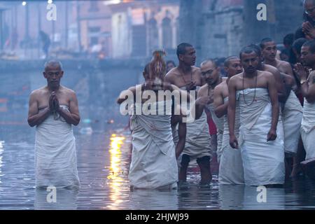
M 220 78 L 220 68 L 216 62 L 211 59 L 207 59 L 200 64 L 200 70 L 202 72 L 202 78 L 208 83 L 208 85 L 214 85 Z

